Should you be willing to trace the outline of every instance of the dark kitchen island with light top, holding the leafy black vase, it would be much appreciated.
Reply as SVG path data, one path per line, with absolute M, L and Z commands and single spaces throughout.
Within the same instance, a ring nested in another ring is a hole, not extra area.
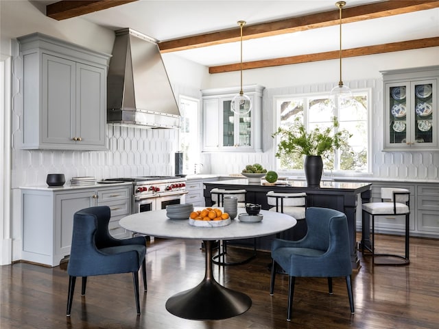
M 361 202 L 370 201 L 370 186 L 372 183 L 348 183 L 348 182 L 322 182 L 320 187 L 307 187 L 305 181 L 289 181 L 288 185 L 263 185 L 263 183 L 249 183 L 248 179 L 233 179 L 228 181 L 216 181 L 204 183 L 204 200 L 206 205 L 212 205 L 211 189 L 246 189 L 247 202 L 261 205 L 262 209 L 269 209 L 267 192 L 307 194 L 307 207 L 324 207 L 342 211 L 348 219 L 349 239 L 351 243 L 351 260 L 353 269 L 359 269 L 356 241 L 356 213 L 357 198 Z M 303 226 L 303 225 L 302 225 Z M 302 227 L 299 226 L 298 227 Z M 305 226 L 306 232 L 306 226 Z M 301 235 L 304 235 L 302 232 Z M 257 247 L 261 250 L 270 250 L 274 236 L 260 239 Z M 363 230 L 362 242 L 368 241 L 368 229 Z M 248 241 L 250 246 L 250 241 Z

